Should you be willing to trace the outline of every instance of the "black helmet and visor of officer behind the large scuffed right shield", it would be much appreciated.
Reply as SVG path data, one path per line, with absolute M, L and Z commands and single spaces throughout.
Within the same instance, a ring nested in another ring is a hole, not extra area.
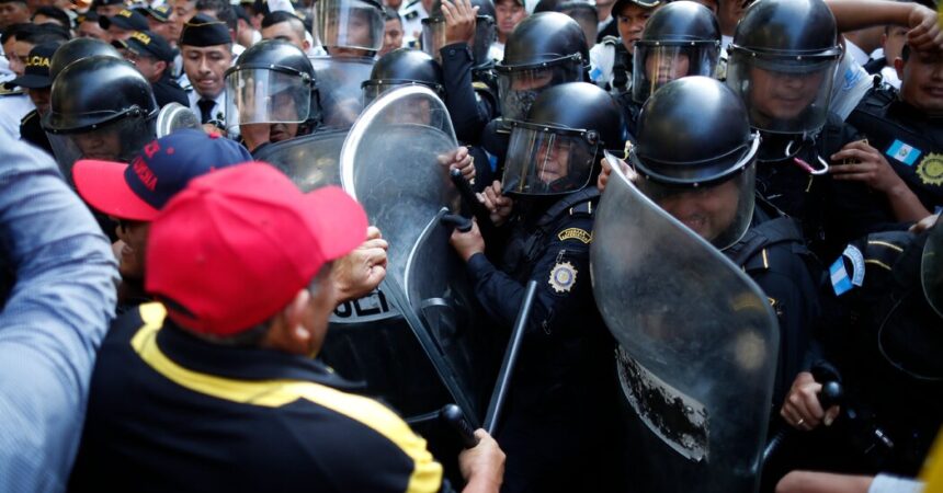
M 636 137 L 629 162 L 645 195 L 669 213 L 680 200 L 729 204 L 726 214 L 679 219 L 720 250 L 743 237 L 753 216 L 760 136 L 730 88 L 700 76 L 664 84 L 643 106 Z

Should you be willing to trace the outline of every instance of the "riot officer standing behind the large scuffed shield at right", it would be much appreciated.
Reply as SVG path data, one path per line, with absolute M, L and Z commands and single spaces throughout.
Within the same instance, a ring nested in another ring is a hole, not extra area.
M 649 98 L 637 137 L 629 161 L 639 190 L 742 267 L 769 298 L 780 324 L 773 390 L 780 403 L 803 369 L 821 270 L 798 222 L 754 197 L 760 135 L 743 103 L 714 79 L 682 78 Z

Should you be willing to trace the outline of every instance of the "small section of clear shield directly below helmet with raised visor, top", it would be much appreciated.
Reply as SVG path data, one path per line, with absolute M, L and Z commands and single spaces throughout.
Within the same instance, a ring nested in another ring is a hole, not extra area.
M 328 127 L 350 127 L 363 110 L 361 83 L 370 79 L 373 58 L 311 57 L 321 119 Z

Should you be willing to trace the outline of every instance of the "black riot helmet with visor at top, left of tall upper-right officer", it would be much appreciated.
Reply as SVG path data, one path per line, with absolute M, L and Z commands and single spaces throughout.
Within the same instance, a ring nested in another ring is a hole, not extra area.
M 644 103 L 658 88 L 686 76 L 714 76 L 720 58 L 720 25 L 706 7 L 668 3 L 645 23 L 635 44 L 632 99 Z

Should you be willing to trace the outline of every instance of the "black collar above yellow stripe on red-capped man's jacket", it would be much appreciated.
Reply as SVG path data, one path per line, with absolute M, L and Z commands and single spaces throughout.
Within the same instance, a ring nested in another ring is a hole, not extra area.
M 273 349 L 214 345 L 188 334 L 170 319 L 157 333 L 157 346 L 190 370 L 236 380 L 304 380 L 339 390 L 363 385 L 345 380 L 321 362 Z

